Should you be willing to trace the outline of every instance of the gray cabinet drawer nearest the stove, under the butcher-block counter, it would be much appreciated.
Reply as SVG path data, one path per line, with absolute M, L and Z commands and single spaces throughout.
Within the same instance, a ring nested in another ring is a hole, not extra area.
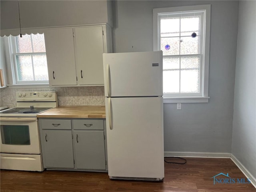
M 42 119 L 42 129 L 68 129 L 71 130 L 71 120 L 68 119 Z

